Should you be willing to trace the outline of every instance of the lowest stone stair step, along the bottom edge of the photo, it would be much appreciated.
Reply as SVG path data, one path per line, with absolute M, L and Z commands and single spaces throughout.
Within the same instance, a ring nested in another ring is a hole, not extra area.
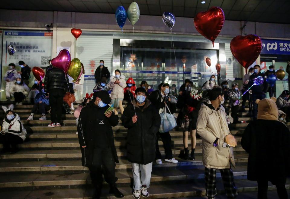
M 235 180 L 235 184 L 238 187 L 238 193 L 241 192 L 253 192 L 258 190 L 256 181 L 247 180 Z M 124 199 L 132 199 L 132 188 L 130 186 L 119 186 L 119 190 L 124 194 Z M 290 189 L 289 183 L 286 185 L 287 189 Z M 268 190 L 275 190 L 276 187 L 269 184 Z M 33 190 L 33 191 L 2 191 L 0 193 L 1 198 L 17 198 L 17 199 L 91 199 L 94 189 L 79 189 L 68 188 L 53 190 Z M 222 180 L 217 178 L 217 191 L 218 196 L 224 196 L 224 186 Z M 157 184 L 148 188 L 150 198 L 171 198 L 171 197 L 193 197 L 193 196 L 205 196 L 204 182 L 195 183 L 180 183 L 172 185 Z M 109 188 L 103 187 L 101 199 L 115 199 L 113 195 L 109 194 Z

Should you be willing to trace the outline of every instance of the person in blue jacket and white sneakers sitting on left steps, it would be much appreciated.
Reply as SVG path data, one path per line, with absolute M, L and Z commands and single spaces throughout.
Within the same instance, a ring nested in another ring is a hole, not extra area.
M 46 120 L 46 112 L 50 110 L 50 106 L 49 99 L 45 95 L 44 88 L 35 96 L 33 108 L 27 120 L 33 120 L 33 116 L 37 113 L 37 110 L 42 115 L 39 120 Z

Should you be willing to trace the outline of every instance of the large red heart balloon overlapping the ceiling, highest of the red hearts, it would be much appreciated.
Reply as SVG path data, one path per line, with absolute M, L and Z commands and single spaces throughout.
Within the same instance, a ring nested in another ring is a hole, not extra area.
M 211 40 L 212 46 L 214 46 L 214 40 L 218 37 L 224 25 L 224 11 L 219 7 L 211 7 L 206 12 L 199 12 L 193 22 L 196 30 L 205 38 Z

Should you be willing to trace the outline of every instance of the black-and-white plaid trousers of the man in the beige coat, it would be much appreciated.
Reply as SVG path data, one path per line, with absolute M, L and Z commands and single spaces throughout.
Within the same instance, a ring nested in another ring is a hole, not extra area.
M 237 187 L 234 183 L 234 175 L 232 169 L 220 169 L 223 179 L 224 188 L 228 198 L 237 198 Z M 205 189 L 208 198 L 217 195 L 216 189 L 217 169 L 205 167 Z

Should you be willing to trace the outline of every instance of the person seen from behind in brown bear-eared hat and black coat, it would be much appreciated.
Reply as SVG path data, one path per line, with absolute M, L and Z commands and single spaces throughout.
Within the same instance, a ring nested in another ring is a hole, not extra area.
M 279 122 L 275 102 L 275 97 L 256 100 L 257 120 L 248 124 L 241 140 L 249 153 L 247 179 L 258 182 L 258 199 L 267 199 L 268 181 L 276 186 L 280 199 L 288 198 L 285 184 L 290 168 L 290 132 Z

